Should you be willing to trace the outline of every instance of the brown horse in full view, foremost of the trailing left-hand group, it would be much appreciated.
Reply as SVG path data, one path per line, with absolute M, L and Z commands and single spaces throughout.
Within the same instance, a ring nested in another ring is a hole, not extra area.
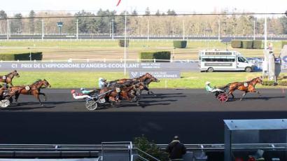
M 37 80 L 31 85 L 10 87 L 10 92 L 15 93 L 15 102 L 17 102 L 20 94 L 28 94 L 28 95 L 34 95 L 34 97 L 38 99 L 40 105 L 43 106 L 41 99 L 39 98 L 39 95 L 43 95 L 45 97 L 45 101 L 47 100 L 45 93 L 41 92 L 41 88 L 43 88 L 43 86 L 51 87 L 48 81 L 44 79 L 44 80 Z

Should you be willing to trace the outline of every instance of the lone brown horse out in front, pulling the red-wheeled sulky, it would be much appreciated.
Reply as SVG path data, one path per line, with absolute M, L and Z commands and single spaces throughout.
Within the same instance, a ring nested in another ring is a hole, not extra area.
M 261 94 L 255 90 L 255 85 L 257 83 L 260 83 L 260 84 L 262 83 L 262 79 L 260 77 L 253 78 L 252 80 L 250 80 L 248 82 L 229 83 L 228 85 L 225 85 L 225 87 L 223 87 L 223 88 L 229 88 L 228 96 L 231 94 L 232 99 L 235 98 L 235 96 L 232 94 L 235 90 L 244 91 L 244 94 L 242 95 L 242 97 L 240 99 L 240 101 L 241 101 L 248 92 L 256 92 L 261 96 Z

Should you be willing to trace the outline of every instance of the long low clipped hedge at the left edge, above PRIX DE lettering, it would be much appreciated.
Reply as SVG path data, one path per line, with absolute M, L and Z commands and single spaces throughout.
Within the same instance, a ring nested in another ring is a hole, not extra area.
M 31 60 L 42 60 L 42 52 L 31 52 Z M 0 60 L 14 61 L 14 60 L 30 60 L 30 52 L 22 54 L 0 54 Z

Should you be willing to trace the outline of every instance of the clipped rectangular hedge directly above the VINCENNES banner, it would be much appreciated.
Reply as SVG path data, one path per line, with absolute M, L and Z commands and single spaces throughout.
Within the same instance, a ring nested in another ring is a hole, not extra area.
M 139 52 L 140 59 L 167 59 L 170 60 L 170 51 L 158 51 L 158 52 Z M 153 60 L 141 60 L 141 62 L 153 62 Z M 160 61 L 156 62 L 169 62 L 169 61 Z

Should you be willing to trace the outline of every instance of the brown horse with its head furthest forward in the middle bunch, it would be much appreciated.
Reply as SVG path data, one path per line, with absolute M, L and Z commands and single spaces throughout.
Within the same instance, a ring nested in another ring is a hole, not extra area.
M 127 78 L 123 78 L 123 79 L 119 79 L 119 80 L 113 80 L 111 82 L 109 82 L 111 85 L 115 84 L 115 83 L 125 83 L 127 81 L 135 81 L 135 80 L 138 80 L 142 83 L 144 83 L 144 87 L 141 87 L 141 89 L 139 90 L 139 95 L 141 94 L 141 92 L 143 90 L 146 90 L 148 91 L 148 94 L 150 94 L 150 92 L 152 94 L 155 95 L 155 93 L 151 90 L 148 89 L 148 85 L 151 83 L 151 82 L 160 82 L 160 80 L 158 80 L 157 78 L 155 78 L 154 76 L 152 76 L 150 73 L 146 73 L 144 74 L 143 76 L 140 76 L 139 78 L 133 78 L 133 79 L 127 79 Z

